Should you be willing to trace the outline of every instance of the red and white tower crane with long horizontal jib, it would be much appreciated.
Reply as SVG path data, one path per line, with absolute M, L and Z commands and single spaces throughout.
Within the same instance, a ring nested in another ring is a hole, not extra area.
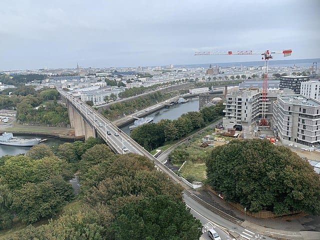
M 267 126 L 268 123 L 265 119 L 265 106 L 266 106 L 266 94 L 267 94 L 267 80 L 268 80 L 268 62 L 269 59 L 273 58 L 271 54 L 281 54 L 283 53 L 283 56 L 289 56 L 291 55 L 292 50 L 281 50 L 281 51 L 252 51 L 252 50 L 244 50 L 244 51 L 196 51 L 194 52 L 194 55 L 262 55 L 262 60 L 264 59 L 264 73 L 263 73 L 263 87 L 262 87 L 262 114 L 261 114 L 261 120 L 259 122 L 260 126 Z

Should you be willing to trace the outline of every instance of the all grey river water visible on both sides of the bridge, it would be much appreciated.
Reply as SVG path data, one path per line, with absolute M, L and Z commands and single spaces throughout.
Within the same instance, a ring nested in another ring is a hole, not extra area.
M 153 112 L 149 114 L 148 116 L 153 116 L 153 122 L 158 122 L 161 119 L 176 119 L 183 113 L 186 113 L 188 111 L 198 111 L 199 109 L 199 98 L 191 98 L 186 103 L 179 103 L 170 106 L 169 108 L 162 108 L 158 112 Z M 121 128 L 126 134 L 130 134 L 129 125 L 132 123 L 124 126 Z M 33 138 L 32 136 L 23 136 L 23 135 L 17 135 L 21 138 Z M 43 137 L 45 138 L 45 137 Z M 57 138 L 48 138 L 46 141 L 40 144 L 46 144 L 46 145 L 53 145 L 53 144 L 62 144 L 66 141 L 62 141 Z M 0 144 L 0 156 L 3 155 L 17 155 L 20 153 L 27 152 L 31 147 L 29 146 L 6 146 Z

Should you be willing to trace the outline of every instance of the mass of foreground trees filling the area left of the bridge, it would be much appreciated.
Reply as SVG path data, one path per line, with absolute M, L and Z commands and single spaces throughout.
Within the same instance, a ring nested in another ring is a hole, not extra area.
M 182 188 L 146 157 L 114 154 L 89 138 L 24 155 L 0 157 L 0 228 L 29 225 L 6 239 L 198 239 L 201 223 L 182 201 Z M 75 197 L 68 179 L 77 173 Z M 62 213 L 61 208 L 70 200 Z M 12 214 L 15 213 L 15 214 Z

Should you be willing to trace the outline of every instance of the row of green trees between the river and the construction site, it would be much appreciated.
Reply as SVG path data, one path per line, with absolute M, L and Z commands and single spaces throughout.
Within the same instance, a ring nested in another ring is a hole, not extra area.
M 134 128 L 130 136 L 146 150 L 155 149 L 165 142 L 180 139 L 223 115 L 222 102 L 203 107 L 200 111 L 189 111 L 177 119 L 161 119 L 156 123 L 143 124 Z

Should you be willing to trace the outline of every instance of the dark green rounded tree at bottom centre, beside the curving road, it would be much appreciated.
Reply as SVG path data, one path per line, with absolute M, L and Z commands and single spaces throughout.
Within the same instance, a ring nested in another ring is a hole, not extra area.
M 165 195 L 146 197 L 121 208 L 112 224 L 115 239 L 199 239 L 202 224 L 183 202 Z

